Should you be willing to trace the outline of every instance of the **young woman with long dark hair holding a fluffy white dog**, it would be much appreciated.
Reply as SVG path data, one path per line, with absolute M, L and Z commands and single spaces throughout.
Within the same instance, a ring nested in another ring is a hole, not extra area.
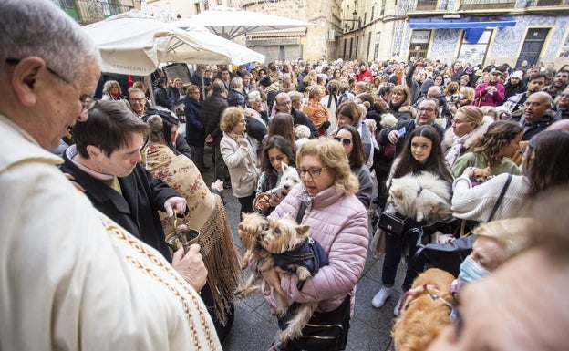
M 441 189 L 437 189 L 437 192 L 445 193 L 445 198 L 450 199 L 452 174 L 450 174 L 450 170 L 440 147 L 439 133 L 437 129 L 430 126 L 419 126 L 413 129 L 401 155 L 393 162 L 391 174 L 387 182 L 388 188 L 392 180 L 402 179 L 404 177 L 419 177 L 422 172 L 429 172 L 442 180 L 441 184 L 443 184 L 443 186 L 441 186 Z M 410 180 L 410 182 L 417 183 L 419 179 Z M 439 183 L 440 182 L 437 184 Z M 418 198 L 419 192 L 417 194 Z M 416 201 L 416 199 L 414 201 Z M 392 203 L 388 204 L 386 212 L 396 212 Z M 409 257 L 412 257 L 416 251 L 415 243 L 417 243 L 417 235 L 413 235 L 409 229 L 420 228 L 421 225 L 429 222 L 429 219 L 418 222 L 415 216 L 411 216 L 410 213 L 396 213 L 396 215 L 399 218 L 405 219 L 405 227 L 400 234 L 385 233 L 386 249 L 381 275 L 383 286 L 371 301 L 371 305 L 376 308 L 383 306 L 391 295 L 391 287 L 395 284 L 395 275 L 397 274 L 398 265 L 401 260 L 401 249 L 405 244 L 403 243 L 403 237 L 406 235 L 406 232 L 410 234 L 408 240 L 405 240 L 405 242 L 409 243 Z M 407 271 L 402 286 L 403 292 L 409 290 L 416 276 L 417 272 Z M 401 294 L 401 297 L 402 296 L 404 296 L 404 294 Z M 395 315 L 398 315 L 398 306 L 399 303 L 395 305 Z

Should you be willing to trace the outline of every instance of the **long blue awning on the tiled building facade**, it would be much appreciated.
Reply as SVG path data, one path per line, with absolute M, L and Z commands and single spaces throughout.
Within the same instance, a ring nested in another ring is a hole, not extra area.
M 516 22 L 513 17 L 477 17 L 477 18 L 411 18 L 409 27 L 425 28 L 425 29 L 472 29 L 472 28 L 488 28 L 497 26 L 515 26 Z

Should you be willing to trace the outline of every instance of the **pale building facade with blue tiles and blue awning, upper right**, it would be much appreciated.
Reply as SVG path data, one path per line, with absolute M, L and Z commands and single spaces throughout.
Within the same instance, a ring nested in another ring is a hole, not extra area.
M 567 63 L 567 0 L 344 0 L 342 9 L 357 19 L 342 23 L 345 59 Z

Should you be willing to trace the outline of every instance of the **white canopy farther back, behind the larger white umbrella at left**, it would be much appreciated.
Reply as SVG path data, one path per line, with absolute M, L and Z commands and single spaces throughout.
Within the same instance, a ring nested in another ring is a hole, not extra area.
M 204 26 L 218 36 L 228 39 L 233 39 L 246 33 L 316 26 L 316 24 L 311 22 L 225 6 L 214 7 L 190 18 L 173 22 L 172 25 L 180 28 Z

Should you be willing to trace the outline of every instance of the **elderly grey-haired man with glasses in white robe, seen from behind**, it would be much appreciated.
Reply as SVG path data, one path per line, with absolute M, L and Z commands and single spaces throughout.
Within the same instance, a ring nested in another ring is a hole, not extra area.
M 47 151 L 97 105 L 97 47 L 52 1 L 0 14 L 0 348 L 222 350 L 194 287 Z

